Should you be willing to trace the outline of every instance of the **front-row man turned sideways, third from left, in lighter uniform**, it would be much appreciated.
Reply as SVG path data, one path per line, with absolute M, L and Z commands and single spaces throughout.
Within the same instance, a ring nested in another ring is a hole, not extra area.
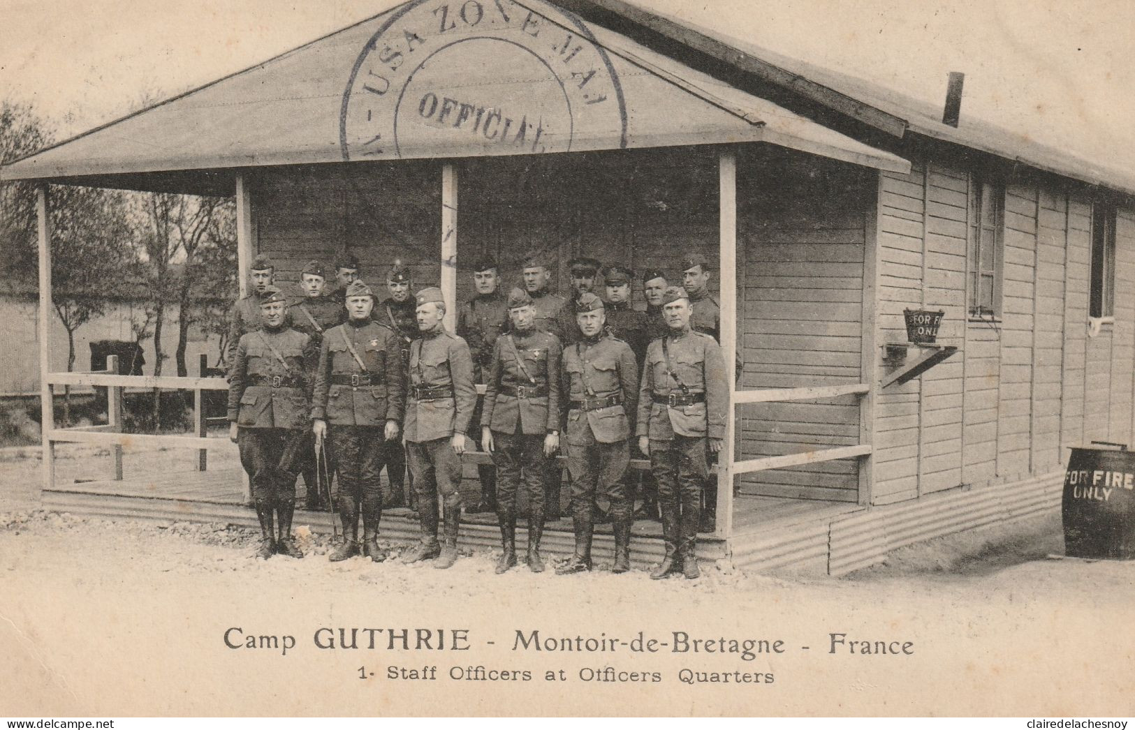
M 461 455 L 465 452 L 465 432 L 477 407 L 473 358 L 463 339 L 445 331 L 442 290 L 422 289 L 417 302 L 421 337 L 410 350 L 404 435 L 418 491 L 422 537 L 402 562 L 437 558 L 435 568 L 451 568 L 457 560 L 461 525 Z M 437 540 L 439 493 L 445 507 L 444 546 Z

